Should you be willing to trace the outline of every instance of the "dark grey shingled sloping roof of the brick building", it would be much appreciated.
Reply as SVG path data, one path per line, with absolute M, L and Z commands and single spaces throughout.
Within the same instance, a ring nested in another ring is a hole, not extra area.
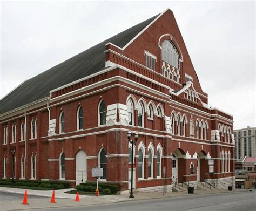
M 124 47 L 158 15 L 132 26 L 37 76 L 26 80 L 0 101 L 0 114 L 49 96 L 49 92 L 72 81 L 99 72 L 105 67 L 105 44 Z

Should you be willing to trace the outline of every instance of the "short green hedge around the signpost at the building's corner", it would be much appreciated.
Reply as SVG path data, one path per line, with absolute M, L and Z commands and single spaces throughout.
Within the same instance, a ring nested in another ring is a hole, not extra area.
M 95 192 L 96 187 L 96 182 L 86 182 L 80 183 L 80 185 L 77 185 L 75 189 L 80 191 Z M 99 183 L 99 192 L 107 193 L 109 191 L 111 192 L 111 194 L 116 194 L 118 192 L 118 186 L 110 183 Z

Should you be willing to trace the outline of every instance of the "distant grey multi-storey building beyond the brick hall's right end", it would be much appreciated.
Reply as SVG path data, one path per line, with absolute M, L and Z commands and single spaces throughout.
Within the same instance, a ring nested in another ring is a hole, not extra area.
M 235 159 L 242 161 L 245 156 L 256 156 L 256 127 L 234 130 Z

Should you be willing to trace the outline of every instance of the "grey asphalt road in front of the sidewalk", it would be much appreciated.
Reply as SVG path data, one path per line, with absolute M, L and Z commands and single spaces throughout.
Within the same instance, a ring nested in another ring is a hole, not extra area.
M 42 209 L 32 209 L 42 210 Z M 164 199 L 110 203 L 105 205 L 61 207 L 43 210 L 256 210 L 256 191 L 224 194 L 187 195 Z

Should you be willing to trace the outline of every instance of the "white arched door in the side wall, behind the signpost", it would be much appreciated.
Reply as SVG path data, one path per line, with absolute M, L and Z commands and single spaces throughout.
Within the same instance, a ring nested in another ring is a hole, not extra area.
M 87 160 L 86 153 L 80 150 L 76 155 L 76 185 L 87 180 Z

